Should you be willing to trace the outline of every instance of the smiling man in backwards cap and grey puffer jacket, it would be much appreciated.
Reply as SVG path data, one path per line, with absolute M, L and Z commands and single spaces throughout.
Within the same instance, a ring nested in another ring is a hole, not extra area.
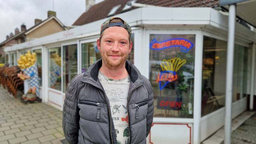
M 126 61 L 131 28 L 121 18 L 101 26 L 102 59 L 74 77 L 63 107 L 63 130 L 71 144 L 146 144 L 153 121 L 150 82 Z

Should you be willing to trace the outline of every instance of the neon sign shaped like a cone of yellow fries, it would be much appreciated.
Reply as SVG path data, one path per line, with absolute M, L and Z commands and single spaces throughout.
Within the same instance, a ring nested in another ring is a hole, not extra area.
M 183 66 L 187 61 L 185 59 L 173 58 L 166 60 L 164 59 L 161 63 L 162 71 L 158 74 L 156 82 L 159 83 L 159 89 L 162 90 L 169 82 L 177 80 L 178 75 L 176 72 Z M 165 82 L 162 86 L 162 82 Z

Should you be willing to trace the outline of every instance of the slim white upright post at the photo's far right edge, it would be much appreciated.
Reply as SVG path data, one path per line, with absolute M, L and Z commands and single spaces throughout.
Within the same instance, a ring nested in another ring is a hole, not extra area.
M 253 96 L 254 96 L 254 75 L 255 75 L 255 49 L 256 44 L 252 45 L 252 72 L 251 72 L 251 94 L 250 94 L 250 110 L 253 110 Z

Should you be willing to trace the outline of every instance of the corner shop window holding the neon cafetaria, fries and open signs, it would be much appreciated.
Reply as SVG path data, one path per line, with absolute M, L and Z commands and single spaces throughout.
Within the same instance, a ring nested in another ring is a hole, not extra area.
M 195 35 L 150 35 L 154 117 L 193 118 Z

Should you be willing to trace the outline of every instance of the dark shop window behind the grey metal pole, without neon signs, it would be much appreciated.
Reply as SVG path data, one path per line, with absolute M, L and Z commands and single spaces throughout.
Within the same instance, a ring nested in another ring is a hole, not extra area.
M 234 47 L 233 96 L 237 101 L 246 96 L 248 48 Z M 204 36 L 202 67 L 202 116 L 225 106 L 227 42 Z

